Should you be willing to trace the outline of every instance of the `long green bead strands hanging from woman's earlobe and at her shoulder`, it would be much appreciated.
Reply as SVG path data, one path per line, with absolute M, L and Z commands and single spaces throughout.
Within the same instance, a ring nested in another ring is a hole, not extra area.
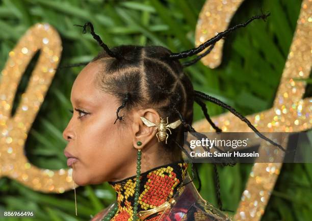
M 141 141 L 137 142 L 138 146 L 142 145 Z M 139 190 L 140 190 L 140 176 L 141 176 L 141 149 L 138 149 L 138 156 L 137 156 L 137 176 L 136 176 L 136 187 L 135 187 L 135 202 L 133 208 L 133 221 L 138 221 L 138 204 L 139 204 Z M 111 209 L 111 211 L 102 219 L 102 221 L 110 221 L 111 218 L 115 215 L 118 210 L 118 204 Z

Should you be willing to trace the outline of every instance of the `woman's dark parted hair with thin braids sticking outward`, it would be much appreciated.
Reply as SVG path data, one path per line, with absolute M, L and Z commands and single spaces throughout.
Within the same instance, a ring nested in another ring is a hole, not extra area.
M 216 42 L 232 31 L 246 27 L 247 24 L 254 19 L 266 20 L 269 15 L 270 13 L 253 16 L 246 22 L 237 24 L 236 26 L 218 33 L 215 37 L 207 40 L 198 47 L 180 53 L 172 53 L 163 46 L 155 45 L 120 45 L 109 48 L 105 43 L 103 43 L 101 38 L 95 34 L 91 22 L 86 22 L 84 26 L 75 26 L 83 27 L 83 33 L 86 33 L 86 28 L 90 27 L 90 33 L 93 38 L 97 41 L 98 45 L 103 48 L 103 51 L 101 51 L 90 62 L 101 62 L 102 68 L 105 70 L 103 71 L 105 72 L 105 75 L 99 74 L 96 82 L 102 91 L 116 96 L 121 103 L 120 107 L 116 110 L 116 120 L 114 124 L 117 120 L 119 120 L 122 124 L 126 124 L 126 121 L 124 120 L 125 115 L 133 108 L 139 106 L 154 108 L 161 116 L 168 116 L 171 121 L 180 119 L 182 127 L 178 127 L 176 130 L 173 130 L 172 134 L 168 138 L 168 143 L 165 144 L 161 142 L 161 145 L 165 151 L 173 154 L 179 159 L 182 159 L 183 152 L 190 158 L 188 152 L 183 148 L 186 143 L 187 147 L 190 148 L 189 143 L 185 140 L 184 132 L 190 132 L 199 139 L 207 138 L 205 135 L 197 133 L 191 126 L 193 122 L 194 102 L 201 107 L 205 118 L 215 129 L 215 131 L 218 133 L 222 132 L 222 130 L 211 120 L 203 100 L 212 102 L 229 110 L 242 121 L 246 122 L 248 127 L 250 127 L 259 137 L 269 141 L 271 144 L 277 146 L 285 152 L 281 145 L 275 143 L 257 131 L 251 122 L 234 108 L 224 104 L 215 97 L 194 90 L 190 78 L 183 71 L 184 67 L 195 64 L 202 57 L 209 54 Z M 207 48 L 207 50 L 193 60 L 185 63 L 179 62 L 179 59 L 196 55 L 205 50 L 205 48 Z M 62 66 L 58 69 L 86 65 L 88 63 L 89 62 L 77 63 Z M 119 115 L 120 112 L 123 112 L 122 116 Z M 221 150 L 219 151 L 222 152 Z M 216 163 L 218 162 L 213 162 L 214 179 L 217 190 L 216 197 L 219 209 L 224 211 L 220 197 L 220 181 Z M 198 191 L 200 191 L 201 181 L 198 176 L 198 171 L 192 161 L 191 164 L 192 175 L 193 178 L 195 178 L 195 170 L 199 183 Z M 236 163 L 231 162 L 230 159 L 227 163 L 220 163 L 221 166 L 233 166 L 235 164 Z

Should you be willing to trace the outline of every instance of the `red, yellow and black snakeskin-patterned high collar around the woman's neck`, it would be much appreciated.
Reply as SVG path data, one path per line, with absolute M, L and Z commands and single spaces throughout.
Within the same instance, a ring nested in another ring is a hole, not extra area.
M 187 166 L 187 163 L 177 161 L 141 173 L 138 212 L 158 207 L 172 199 L 185 178 Z M 113 220 L 133 220 L 136 176 L 108 183 L 117 196 L 118 210 Z

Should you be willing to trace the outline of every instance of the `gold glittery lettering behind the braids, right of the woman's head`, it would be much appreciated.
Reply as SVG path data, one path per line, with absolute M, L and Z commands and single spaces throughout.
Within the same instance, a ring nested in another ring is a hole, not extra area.
M 198 46 L 213 37 L 216 32 L 226 30 L 233 12 L 241 3 L 242 1 L 206 1 L 197 24 L 196 45 Z M 246 116 L 261 132 L 300 132 L 311 128 L 312 99 L 302 99 L 306 83 L 294 81 L 295 78 L 308 78 L 311 69 L 311 6 L 311 1 L 304 0 L 302 2 L 297 27 L 273 107 Z M 209 29 L 206 25 L 209 26 Z M 222 29 L 220 29 L 221 27 Z M 213 68 L 220 64 L 222 45 L 222 42 L 217 43 L 211 54 L 201 59 L 205 65 Z M 213 117 L 212 120 L 224 132 L 251 132 L 245 122 L 231 113 Z M 198 132 L 214 131 L 206 119 L 195 122 L 194 128 Z M 286 143 L 281 144 L 285 146 Z M 261 152 L 263 151 L 276 152 L 280 150 L 262 142 Z M 253 165 L 234 220 L 255 221 L 261 219 L 279 175 L 280 167 L 281 163 L 255 163 Z

